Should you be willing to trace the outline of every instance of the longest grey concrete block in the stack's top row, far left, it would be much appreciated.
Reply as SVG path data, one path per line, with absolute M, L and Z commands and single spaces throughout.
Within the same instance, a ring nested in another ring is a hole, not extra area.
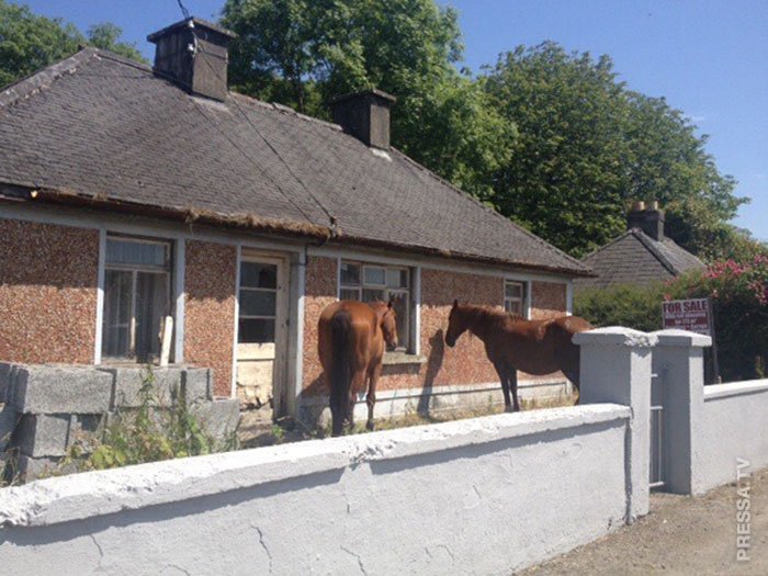
M 26 365 L 13 382 L 22 414 L 98 414 L 110 409 L 112 377 L 92 366 Z

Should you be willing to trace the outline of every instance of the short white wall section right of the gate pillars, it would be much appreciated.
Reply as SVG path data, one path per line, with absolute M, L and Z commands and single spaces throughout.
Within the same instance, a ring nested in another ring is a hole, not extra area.
M 749 472 L 768 466 L 767 415 L 768 380 L 704 387 L 702 442 L 694 454 L 697 493 L 734 482 L 737 458 L 750 462 Z

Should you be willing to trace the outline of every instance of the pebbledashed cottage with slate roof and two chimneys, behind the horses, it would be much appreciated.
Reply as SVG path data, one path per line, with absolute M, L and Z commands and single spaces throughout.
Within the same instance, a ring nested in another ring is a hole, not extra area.
M 170 316 L 172 364 L 304 417 L 320 310 L 391 298 L 379 415 L 500 400 L 476 338 L 443 347 L 453 300 L 568 314 L 587 266 L 393 148 L 386 93 L 328 123 L 229 92 L 231 37 L 192 18 L 148 37 L 154 68 L 86 48 L 0 92 L 0 361 L 153 362 Z

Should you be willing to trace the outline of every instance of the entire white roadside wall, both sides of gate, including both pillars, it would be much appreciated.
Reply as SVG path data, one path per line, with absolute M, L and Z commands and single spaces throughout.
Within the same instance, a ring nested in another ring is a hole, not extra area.
M 0 565 L 57 574 L 510 574 L 648 512 L 658 382 L 666 392 L 653 402 L 677 425 L 664 436 L 670 487 L 697 494 L 732 482 L 739 459 L 749 461 L 743 473 L 768 465 L 768 381 L 704 392 L 708 337 L 600 328 L 574 341 L 580 406 L 0 489 Z

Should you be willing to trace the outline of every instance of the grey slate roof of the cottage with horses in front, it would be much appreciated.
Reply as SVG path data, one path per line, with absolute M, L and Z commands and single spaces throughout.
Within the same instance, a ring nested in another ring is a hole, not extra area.
M 398 150 L 384 156 L 336 124 L 231 92 L 194 98 L 95 48 L 0 93 L 0 185 L 307 234 L 332 217 L 334 242 L 588 274 Z

